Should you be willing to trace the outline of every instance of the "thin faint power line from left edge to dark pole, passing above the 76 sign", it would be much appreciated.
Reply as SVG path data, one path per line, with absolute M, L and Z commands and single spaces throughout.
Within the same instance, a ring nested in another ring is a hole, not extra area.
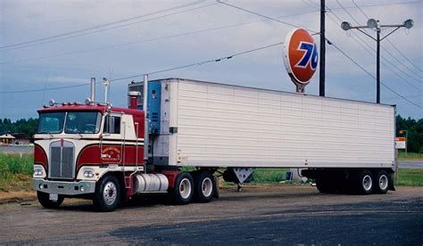
M 280 16 L 278 18 L 286 18 L 286 17 L 291 17 L 291 16 L 297 16 L 297 15 L 302 15 L 302 14 L 306 14 L 306 13 L 310 13 L 310 12 L 317 12 L 317 11 L 299 12 L 299 13 L 289 14 L 289 15 L 285 15 L 285 16 Z M 21 62 L 21 61 L 43 60 L 43 59 L 55 58 L 55 57 L 60 57 L 60 56 L 65 56 L 65 55 L 87 53 L 87 52 L 93 52 L 93 51 L 98 51 L 98 50 L 116 48 L 116 47 L 126 46 L 126 45 L 136 45 L 136 44 L 141 44 L 141 43 L 145 43 L 145 42 L 152 42 L 152 41 L 157 41 L 157 40 L 162 40 L 162 39 L 167 39 L 167 38 L 172 38 L 172 37 L 183 37 L 183 36 L 187 36 L 187 35 L 193 35 L 193 34 L 213 31 L 213 30 L 234 28 L 234 27 L 239 27 L 239 26 L 243 26 L 243 25 L 249 25 L 249 24 L 261 22 L 261 21 L 268 21 L 268 20 L 262 19 L 262 20 L 259 20 L 259 21 L 241 22 L 241 23 L 236 23 L 236 24 L 231 24 L 231 25 L 226 25 L 226 26 L 221 26 L 221 27 L 216 27 L 216 28 L 211 28 L 211 29 L 199 29 L 199 30 L 194 30 L 194 31 L 189 31 L 189 32 L 184 32 L 184 33 L 178 33 L 178 34 L 168 35 L 168 36 L 163 36 L 163 37 L 152 37 L 152 38 L 142 39 L 142 40 L 138 40 L 138 41 L 118 44 L 118 45 L 107 45 L 107 46 L 103 46 L 103 47 L 97 47 L 97 48 L 86 49 L 86 50 L 79 50 L 79 51 L 74 51 L 74 52 L 56 53 L 56 54 L 47 55 L 47 56 L 26 58 L 26 59 L 15 60 L 15 61 L 4 61 L 4 62 L 0 62 L 0 64 L 9 64 L 9 63 L 15 63 L 15 62 Z

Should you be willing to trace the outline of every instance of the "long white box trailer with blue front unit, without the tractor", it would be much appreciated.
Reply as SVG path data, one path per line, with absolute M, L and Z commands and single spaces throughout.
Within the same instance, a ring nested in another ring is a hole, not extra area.
M 150 121 L 160 115 L 151 137 L 154 165 L 228 168 L 236 183 L 252 168 L 302 168 L 323 192 L 357 180 L 367 185 L 362 193 L 376 183 L 379 193 L 394 188 L 392 105 L 182 78 L 149 85 Z M 142 93 L 142 83 L 129 90 Z

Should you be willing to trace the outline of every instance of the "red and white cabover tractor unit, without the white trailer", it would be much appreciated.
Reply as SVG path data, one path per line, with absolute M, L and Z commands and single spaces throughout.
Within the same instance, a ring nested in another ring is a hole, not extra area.
M 145 111 L 88 101 L 52 103 L 38 113 L 33 188 L 44 207 L 77 197 L 111 211 L 135 193 L 169 193 L 186 204 L 194 198 L 194 182 L 202 189 L 195 198 L 211 200 L 214 179 L 208 170 L 188 174 L 146 165 Z

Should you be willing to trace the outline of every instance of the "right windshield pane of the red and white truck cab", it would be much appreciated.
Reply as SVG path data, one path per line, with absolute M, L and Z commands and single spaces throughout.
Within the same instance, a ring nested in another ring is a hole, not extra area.
M 102 115 L 100 112 L 71 111 L 67 113 L 64 133 L 95 134 L 100 131 Z

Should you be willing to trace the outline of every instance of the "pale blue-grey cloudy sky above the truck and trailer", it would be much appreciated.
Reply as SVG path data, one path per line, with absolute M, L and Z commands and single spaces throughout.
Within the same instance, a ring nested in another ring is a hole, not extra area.
M 283 47 L 274 44 L 284 42 L 294 27 L 319 33 L 319 0 L 223 2 L 250 12 L 216 1 L 0 0 L 0 119 L 35 118 L 50 99 L 84 102 L 92 77 L 112 80 L 114 106 L 127 106 L 128 84 L 142 77 L 113 79 L 145 73 L 150 79 L 190 78 L 294 92 Z M 402 117 L 423 118 L 423 1 L 326 4 L 326 37 L 333 44 L 326 45 L 326 95 L 376 102 L 377 43 L 357 30 L 344 31 L 342 21 L 364 26 L 369 18 L 382 25 L 412 19 L 412 29 L 398 29 L 381 41 L 381 81 L 389 87 L 382 86 L 381 102 L 396 104 Z M 376 37 L 375 30 L 363 30 Z M 391 30 L 382 29 L 382 37 Z M 319 45 L 319 36 L 313 37 Z M 268 45 L 274 46 L 154 73 Z M 305 93 L 319 94 L 319 69 Z M 101 83 L 96 99 L 104 100 Z

